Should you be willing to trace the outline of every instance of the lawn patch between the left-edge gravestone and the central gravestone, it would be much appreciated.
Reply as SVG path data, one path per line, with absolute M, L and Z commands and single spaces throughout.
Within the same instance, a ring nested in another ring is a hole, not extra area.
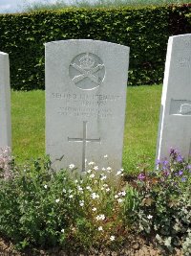
M 19 161 L 44 155 L 44 91 L 12 91 L 12 151 Z

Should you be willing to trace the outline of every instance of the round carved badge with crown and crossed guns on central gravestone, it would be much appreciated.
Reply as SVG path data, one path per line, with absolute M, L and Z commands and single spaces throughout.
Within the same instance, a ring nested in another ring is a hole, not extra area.
M 105 75 L 105 67 L 100 58 L 91 53 L 76 56 L 69 67 L 69 74 L 74 84 L 83 90 L 98 87 Z

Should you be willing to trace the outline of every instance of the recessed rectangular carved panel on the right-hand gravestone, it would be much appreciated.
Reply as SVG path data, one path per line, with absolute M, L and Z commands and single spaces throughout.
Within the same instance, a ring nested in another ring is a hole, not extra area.
M 171 99 L 170 115 L 191 115 L 191 101 Z

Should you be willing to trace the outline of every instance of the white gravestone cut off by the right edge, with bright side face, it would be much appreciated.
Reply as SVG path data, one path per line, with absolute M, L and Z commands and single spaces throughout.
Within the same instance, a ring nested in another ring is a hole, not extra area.
M 191 156 L 191 34 L 168 41 L 161 97 L 157 157 L 174 148 Z

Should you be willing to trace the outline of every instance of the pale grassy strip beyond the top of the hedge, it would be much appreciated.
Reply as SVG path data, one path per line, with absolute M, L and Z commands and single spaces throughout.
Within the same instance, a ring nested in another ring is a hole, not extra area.
M 24 12 L 35 12 L 43 10 L 60 10 L 68 7 L 77 8 L 102 8 L 102 7 L 122 7 L 122 6 L 148 6 L 148 5 L 169 5 L 169 4 L 185 4 L 190 3 L 190 0 L 71 0 L 66 3 L 64 0 L 57 0 L 54 3 L 48 1 L 38 1 L 31 3 L 26 0 Z

